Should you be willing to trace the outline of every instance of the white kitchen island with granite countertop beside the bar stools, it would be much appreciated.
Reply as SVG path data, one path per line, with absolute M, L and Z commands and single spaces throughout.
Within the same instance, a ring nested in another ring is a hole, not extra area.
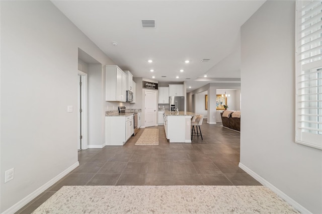
M 192 112 L 165 111 L 165 132 L 170 143 L 191 143 L 191 118 L 196 116 Z

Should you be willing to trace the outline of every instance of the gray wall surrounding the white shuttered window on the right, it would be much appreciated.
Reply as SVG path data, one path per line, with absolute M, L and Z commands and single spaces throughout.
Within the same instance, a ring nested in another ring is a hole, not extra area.
M 322 151 L 294 142 L 294 18 L 294 1 L 267 1 L 241 28 L 240 163 L 322 213 Z

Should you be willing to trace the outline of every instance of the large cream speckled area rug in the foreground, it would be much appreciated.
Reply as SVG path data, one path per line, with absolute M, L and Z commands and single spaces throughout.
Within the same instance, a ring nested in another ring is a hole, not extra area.
M 264 186 L 63 186 L 33 213 L 299 213 Z

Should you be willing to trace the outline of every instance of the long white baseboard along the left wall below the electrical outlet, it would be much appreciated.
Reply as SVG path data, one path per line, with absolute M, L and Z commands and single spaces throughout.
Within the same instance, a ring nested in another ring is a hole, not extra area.
M 71 172 L 73 169 L 75 169 L 77 166 L 79 166 L 78 161 L 76 163 L 74 163 L 73 165 L 71 165 L 70 167 L 68 167 L 67 169 L 65 169 L 64 171 L 62 171 L 61 173 L 59 173 L 56 177 L 54 177 L 53 179 L 51 179 L 50 181 L 48 181 L 47 183 L 45 183 L 44 185 L 42 185 L 41 187 L 39 187 L 38 189 L 33 191 L 32 193 L 30 193 L 26 197 L 24 197 L 22 200 L 18 201 L 12 207 L 5 210 L 3 212 L 3 214 L 15 213 L 16 211 L 18 211 L 19 209 L 24 207 L 27 203 L 29 203 L 34 198 L 36 198 L 38 195 L 40 195 L 42 192 L 44 192 L 46 189 L 48 189 L 50 186 L 52 186 L 57 181 L 59 181 L 61 178 L 63 178 L 65 175 L 67 175 L 69 172 Z

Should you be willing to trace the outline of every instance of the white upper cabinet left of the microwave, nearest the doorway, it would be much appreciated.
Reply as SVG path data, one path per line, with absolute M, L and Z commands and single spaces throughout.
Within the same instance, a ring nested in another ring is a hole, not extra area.
M 106 65 L 105 100 L 126 101 L 127 75 L 117 65 Z

